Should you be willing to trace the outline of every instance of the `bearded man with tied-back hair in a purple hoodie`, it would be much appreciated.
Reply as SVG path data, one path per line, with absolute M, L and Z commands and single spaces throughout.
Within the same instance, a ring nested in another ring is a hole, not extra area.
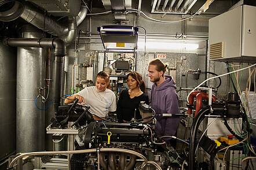
M 153 82 L 151 90 L 151 107 L 156 114 L 162 113 L 180 113 L 178 105 L 178 95 L 175 91 L 177 88 L 173 77 L 164 75 L 167 65 L 159 59 L 152 60 L 148 66 L 148 76 Z M 156 135 L 175 136 L 180 123 L 179 118 L 173 117 L 156 117 Z M 170 138 L 163 138 L 169 141 Z

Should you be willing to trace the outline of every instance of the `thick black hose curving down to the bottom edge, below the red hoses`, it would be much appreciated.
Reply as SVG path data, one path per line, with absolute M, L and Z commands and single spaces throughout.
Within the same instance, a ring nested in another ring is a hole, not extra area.
M 192 126 L 191 126 L 191 133 L 190 133 L 190 142 L 189 142 L 189 170 L 196 169 L 195 167 L 195 142 L 196 142 L 196 133 L 198 132 L 198 128 L 200 123 L 203 121 L 204 116 L 206 113 L 210 112 L 210 106 L 206 106 L 205 108 L 201 109 L 198 113 L 198 115 L 193 120 Z

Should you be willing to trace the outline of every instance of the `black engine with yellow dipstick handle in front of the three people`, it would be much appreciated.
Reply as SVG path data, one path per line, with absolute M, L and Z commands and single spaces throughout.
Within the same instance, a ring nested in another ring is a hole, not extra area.
M 60 106 L 52 127 L 66 128 L 68 121 L 74 121 L 71 128 L 78 130 L 75 149 L 97 149 L 97 152 L 73 154 L 70 158 L 71 169 L 97 169 L 98 166 L 104 170 L 142 167 L 170 169 L 171 166 L 178 166 L 184 161 L 173 147 L 167 147 L 166 143 L 156 136 L 155 114 L 145 114 L 142 116 L 145 119 L 133 120 L 130 123 L 95 121 L 89 107 L 76 105 L 76 102 L 73 105 Z M 151 112 L 150 106 L 145 104 L 142 104 L 140 109 Z M 104 149 L 113 151 L 101 151 Z M 126 152 L 118 149 L 125 149 Z M 138 154 L 144 156 L 151 165 L 146 165 L 145 160 L 138 157 Z

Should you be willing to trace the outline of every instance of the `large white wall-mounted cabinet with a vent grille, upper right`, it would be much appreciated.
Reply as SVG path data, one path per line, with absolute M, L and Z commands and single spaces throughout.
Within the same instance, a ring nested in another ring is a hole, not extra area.
M 209 20 L 210 60 L 256 60 L 256 6 L 242 5 Z

